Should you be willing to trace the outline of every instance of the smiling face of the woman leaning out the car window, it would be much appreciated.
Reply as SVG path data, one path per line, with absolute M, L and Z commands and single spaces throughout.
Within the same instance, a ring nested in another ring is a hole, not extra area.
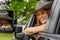
M 37 11 L 37 20 L 42 24 L 46 23 L 48 19 L 48 12 L 45 10 Z

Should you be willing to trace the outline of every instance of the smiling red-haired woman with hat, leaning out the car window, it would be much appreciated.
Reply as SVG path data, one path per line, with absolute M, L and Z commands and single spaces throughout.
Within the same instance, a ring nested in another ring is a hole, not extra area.
M 43 1 L 38 2 L 37 7 L 39 9 L 37 8 L 35 13 L 33 13 L 34 15 L 36 15 L 36 20 L 37 20 L 38 26 L 26 28 L 24 30 L 25 35 L 32 35 L 36 40 L 38 40 L 38 38 L 40 36 L 35 35 L 35 33 L 44 32 L 45 26 L 46 26 L 46 21 L 49 17 L 49 13 L 50 13 L 50 6 L 48 7 L 47 5 L 49 5 L 48 2 L 43 2 Z

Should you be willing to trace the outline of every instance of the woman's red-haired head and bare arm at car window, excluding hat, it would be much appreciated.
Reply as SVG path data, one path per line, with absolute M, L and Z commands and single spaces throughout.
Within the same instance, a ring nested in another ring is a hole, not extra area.
M 36 15 L 36 19 L 37 19 L 37 24 L 39 26 L 26 28 L 24 33 L 26 35 L 32 35 L 34 38 L 36 38 L 36 40 L 38 40 L 38 38 L 40 36 L 33 35 L 33 34 L 38 33 L 38 32 L 44 32 L 46 21 L 49 16 L 49 12 L 50 12 L 49 9 L 38 9 L 36 11 L 35 15 Z

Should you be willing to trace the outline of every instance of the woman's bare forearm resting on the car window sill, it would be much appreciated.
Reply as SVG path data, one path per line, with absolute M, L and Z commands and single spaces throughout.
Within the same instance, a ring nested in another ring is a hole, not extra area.
M 38 32 L 44 31 L 45 25 L 46 24 L 43 24 L 43 25 L 40 25 L 40 26 L 37 26 L 37 27 L 26 28 L 25 31 L 24 31 L 24 33 L 26 35 L 32 35 L 34 33 L 38 33 Z

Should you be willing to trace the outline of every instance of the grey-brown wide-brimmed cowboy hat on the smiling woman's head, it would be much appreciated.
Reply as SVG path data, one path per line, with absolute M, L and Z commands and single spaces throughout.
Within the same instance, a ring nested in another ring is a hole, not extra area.
M 36 5 L 36 9 L 30 13 L 34 14 L 37 10 L 43 8 L 43 9 L 48 9 L 51 8 L 52 1 L 38 1 Z

